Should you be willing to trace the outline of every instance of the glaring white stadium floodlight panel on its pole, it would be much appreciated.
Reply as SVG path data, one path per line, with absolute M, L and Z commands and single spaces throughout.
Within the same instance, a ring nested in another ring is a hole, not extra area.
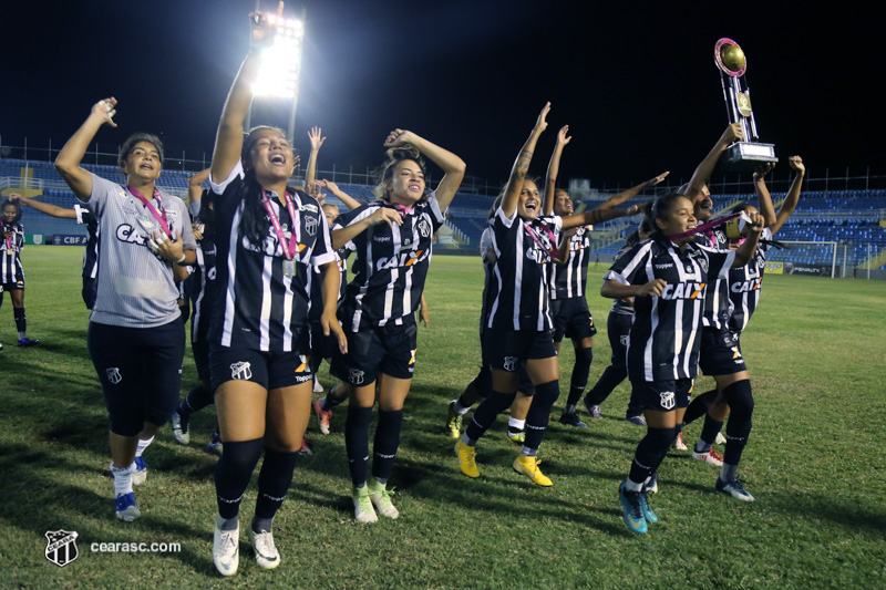
M 274 45 L 265 50 L 254 87 L 256 96 L 295 99 L 301 71 L 301 41 L 305 27 L 300 20 L 277 20 Z

